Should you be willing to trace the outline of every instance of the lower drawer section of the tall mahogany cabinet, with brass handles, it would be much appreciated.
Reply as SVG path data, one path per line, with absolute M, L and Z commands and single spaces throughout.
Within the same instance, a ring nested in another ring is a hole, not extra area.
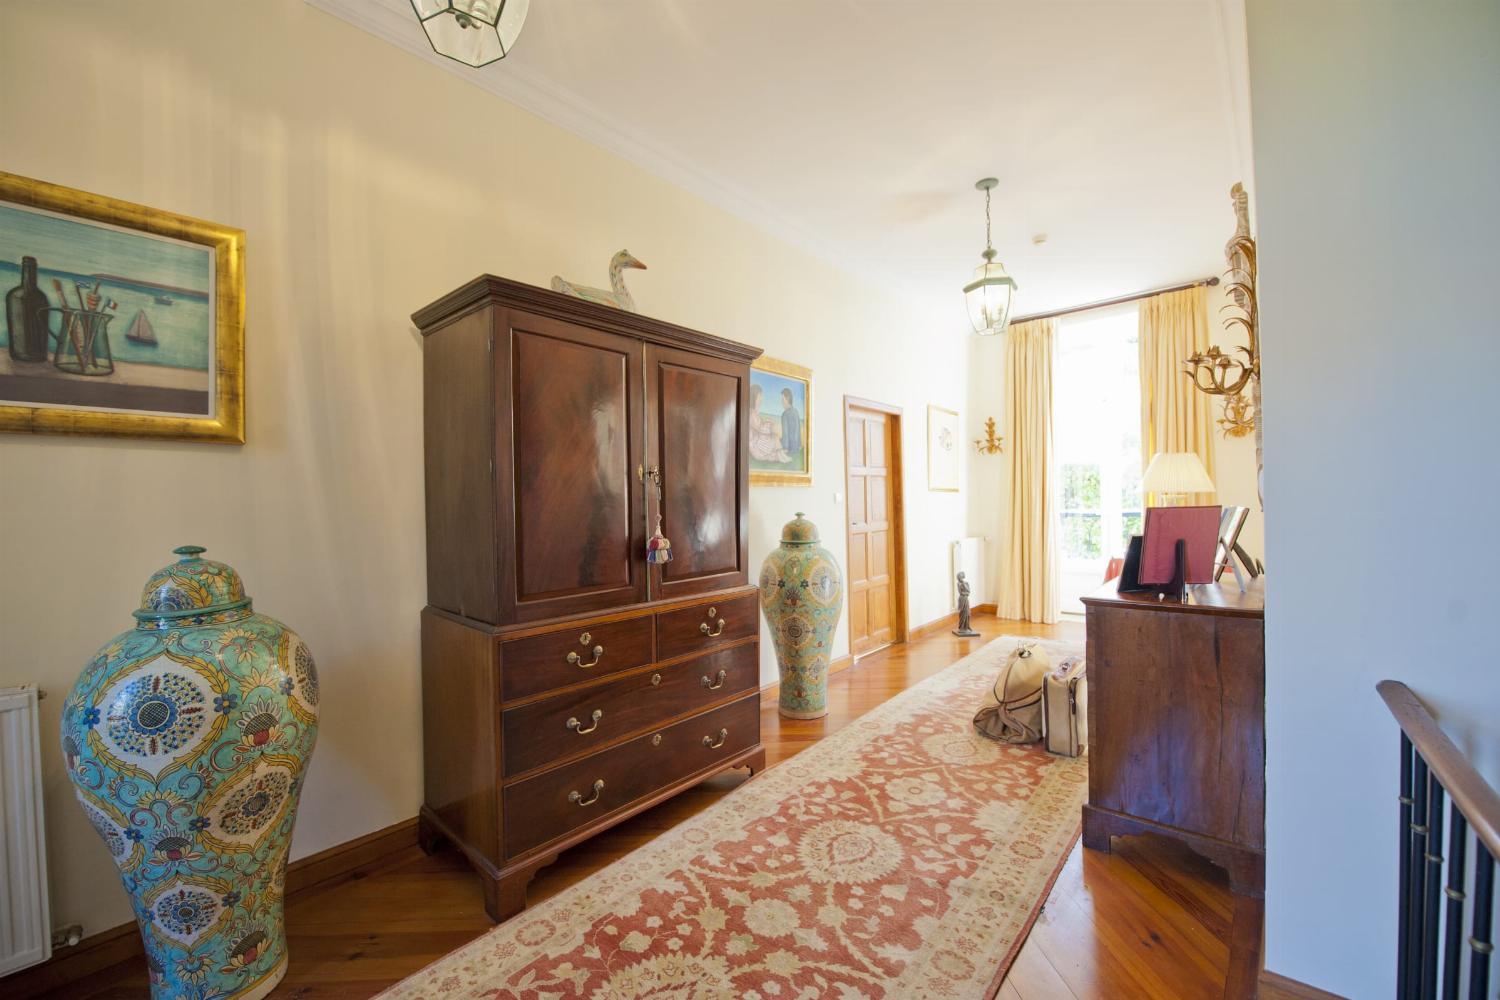
M 422 838 L 456 844 L 489 915 L 558 852 L 728 768 L 765 763 L 756 589 L 519 636 L 422 615 Z

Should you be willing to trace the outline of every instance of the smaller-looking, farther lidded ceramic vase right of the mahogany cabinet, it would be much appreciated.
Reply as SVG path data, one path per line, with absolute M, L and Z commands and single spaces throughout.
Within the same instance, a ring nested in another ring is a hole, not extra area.
M 828 657 L 843 612 L 843 574 L 818 544 L 818 525 L 801 511 L 760 565 L 760 612 L 782 670 L 777 711 L 788 718 L 828 715 Z

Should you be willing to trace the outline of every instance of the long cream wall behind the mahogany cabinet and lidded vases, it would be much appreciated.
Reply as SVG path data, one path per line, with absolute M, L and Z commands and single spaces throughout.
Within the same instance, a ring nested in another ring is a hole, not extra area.
M 926 489 L 926 405 L 964 409 L 957 304 L 921 315 L 882 297 L 300 0 L 93 0 L 68 16 L 10 0 L 0 93 L 4 169 L 248 232 L 249 444 L 0 436 L 0 684 L 52 696 L 56 925 L 130 916 L 52 748 L 66 688 L 177 544 L 234 564 L 318 657 L 322 729 L 292 856 L 416 814 L 422 357 L 408 316 L 482 271 L 602 282 L 628 246 L 651 265 L 632 274 L 644 312 L 814 370 L 814 486 L 752 492 L 752 574 L 796 510 L 843 555 L 842 397 L 903 406 L 910 621 L 948 610 L 946 543 L 966 505 Z

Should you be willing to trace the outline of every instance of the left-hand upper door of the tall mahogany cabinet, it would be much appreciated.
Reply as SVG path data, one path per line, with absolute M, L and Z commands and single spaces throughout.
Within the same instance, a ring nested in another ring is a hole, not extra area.
M 508 621 L 644 601 L 640 342 L 514 310 L 496 322 L 507 334 L 496 382 L 510 396 L 496 414 Z

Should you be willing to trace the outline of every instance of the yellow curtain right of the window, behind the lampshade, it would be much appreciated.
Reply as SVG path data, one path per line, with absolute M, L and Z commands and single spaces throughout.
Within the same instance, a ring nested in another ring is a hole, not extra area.
M 1208 289 L 1203 285 L 1152 295 L 1140 303 L 1140 468 L 1158 451 L 1196 451 L 1209 478 L 1214 469 L 1214 399 L 1192 388 L 1182 370 L 1190 354 L 1209 346 Z M 1149 498 L 1148 498 L 1148 502 Z M 1210 504 L 1192 493 L 1190 504 Z

